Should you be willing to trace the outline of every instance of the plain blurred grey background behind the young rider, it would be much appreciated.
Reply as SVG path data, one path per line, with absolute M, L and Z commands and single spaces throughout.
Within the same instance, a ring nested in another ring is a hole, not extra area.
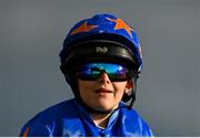
M 73 97 L 59 70 L 70 28 L 97 13 L 140 36 L 143 70 L 134 108 L 156 136 L 200 136 L 200 1 L 0 0 L 0 136 Z

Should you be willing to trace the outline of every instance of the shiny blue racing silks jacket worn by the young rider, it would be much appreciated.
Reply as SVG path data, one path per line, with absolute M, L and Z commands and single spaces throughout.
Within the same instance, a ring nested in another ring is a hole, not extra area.
M 127 108 L 116 110 L 109 118 L 107 128 L 98 128 L 90 114 L 73 98 L 39 113 L 23 126 L 20 136 L 152 137 L 153 135 L 137 112 Z

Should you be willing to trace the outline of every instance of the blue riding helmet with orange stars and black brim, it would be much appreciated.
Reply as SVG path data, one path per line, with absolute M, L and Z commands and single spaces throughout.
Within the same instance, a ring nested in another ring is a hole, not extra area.
M 123 64 L 134 72 L 134 79 L 142 68 L 141 46 L 137 33 L 123 20 L 112 14 L 97 14 L 78 22 L 63 42 L 60 61 L 60 68 L 74 95 L 74 71 L 82 62 Z

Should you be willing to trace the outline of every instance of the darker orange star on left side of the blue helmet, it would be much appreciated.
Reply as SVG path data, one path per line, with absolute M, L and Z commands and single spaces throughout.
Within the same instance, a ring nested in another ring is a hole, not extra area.
M 70 34 L 76 34 L 76 33 L 81 33 L 81 32 L 88 32 L 94 28 L 97 28 L 98 25 L 88 25 L 87 21 L 83 22 L 80 26 L 78 26 L 77 29 L 74 29 Z

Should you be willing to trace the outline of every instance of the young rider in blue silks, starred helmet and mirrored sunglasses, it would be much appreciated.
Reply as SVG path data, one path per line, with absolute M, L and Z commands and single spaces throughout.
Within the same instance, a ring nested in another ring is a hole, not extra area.
M 142 59 L 137 33 L 124 21 L 97 14 L 78 22 L 64 40 L 60 60 L 74 98 L 38 114 L 20 136 L 152 136 L 132 109 Z

